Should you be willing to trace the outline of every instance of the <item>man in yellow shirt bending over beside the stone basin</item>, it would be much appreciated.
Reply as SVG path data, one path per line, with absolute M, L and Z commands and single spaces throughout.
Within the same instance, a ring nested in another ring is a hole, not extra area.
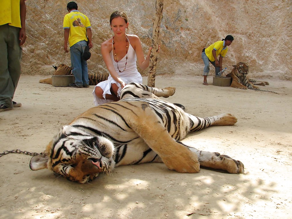
M 205 64 L 204 72 L 203 72 L 204 85 L 208 85 L 207 76 L 209 75 L 209 71 L 210 71 L 209 62 L 211 62 L 211 64 L 215 67 L 215 75 L 218 76 L 218 73 L 222 71 L 222 59 L 223 57 L 225 57 L 228 51 L 227 46 L 230 46 L 232 41 L 233 41 L 233 36 L 227 35 L 225 39 L 217 41 L 213 43 L 212 45 L 208 46 L 208 48 L 203 49 L 202 59 Z M 220 55 L 219 60 L 217 58 L 218 55 Z

